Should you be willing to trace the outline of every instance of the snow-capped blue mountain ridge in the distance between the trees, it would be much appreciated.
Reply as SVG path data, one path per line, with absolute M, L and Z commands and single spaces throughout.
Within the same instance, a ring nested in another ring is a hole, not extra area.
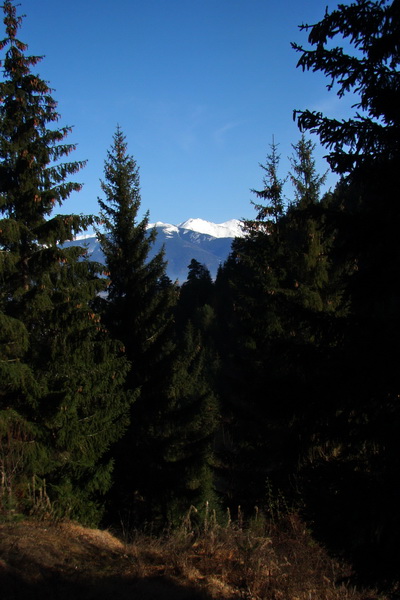
M 187 278 L 192 258 L 207 266 L 215 278 L 218 267 L 228 257 L 235 237 L 243 237 L 242 222 L 231 219 L 224 223 L 212 223 L 204 219 L 188 219 L 179 225 L 150 223 L 149 229 L 157 230 L 157 239 L 150 252 L 154 256 L 162 245 L 165 247 L 167 275 L 172 281 L 183 283 Z M 79 236 L 66 245 L 85 245 L 92 260 L 104 262 L 99 242 L 95 236 Z

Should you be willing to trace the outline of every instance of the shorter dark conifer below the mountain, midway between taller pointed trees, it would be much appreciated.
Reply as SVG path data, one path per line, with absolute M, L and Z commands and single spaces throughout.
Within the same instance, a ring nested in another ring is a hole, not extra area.
M 210 272 L 193 259 L 188 265 L 188 277 L 180 288 L 176 306 L 177 354 L 171 390 L 180 406 L 180 415 L 177 413 L 176 418 L 181 422 L 180 435 L 185 440 L 181 445 L 182 457 L 185 457 L 183 464 L 186 465 L 184 472 L 190 473 L 192 479 L 187 479 L 187 475 L 182 479 L 181 506 L 187 511 L 190 500 L 199 516 L 204 516 L 207 509 L 218 510 L 219 507 L 215 492 L 214 451 L 220 422 L 215 392 L 219 360 L 214 341 L 213 304 L 214 285 Z

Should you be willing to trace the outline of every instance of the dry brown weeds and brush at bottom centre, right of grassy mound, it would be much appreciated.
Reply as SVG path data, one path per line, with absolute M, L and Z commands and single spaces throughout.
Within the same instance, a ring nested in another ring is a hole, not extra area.
M 351 585 L 351 568 L 317 544 L 297 513 L 267 519 L 259 511 L 246 523 L 225 523 L 206 511 L 199 526 L 192 507 L 181 527 L 163 536 L 136 532 L 130 545 L 139 564 L 158 555 L 174 576 L 201 581 L 213 597 L 251 600 L 383 600 Z M 141 548 L 146 552 L 141 558 Z M 144 568 L 145 571 L 145 568 Z

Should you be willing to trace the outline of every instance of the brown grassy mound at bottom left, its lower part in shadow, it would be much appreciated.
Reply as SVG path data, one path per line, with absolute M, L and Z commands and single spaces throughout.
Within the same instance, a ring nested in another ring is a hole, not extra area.
M 1 600 L 211 600 L 154 550 L 72 523 L 0 525 Z M 236 596 L 238 598 L 238 596 Z

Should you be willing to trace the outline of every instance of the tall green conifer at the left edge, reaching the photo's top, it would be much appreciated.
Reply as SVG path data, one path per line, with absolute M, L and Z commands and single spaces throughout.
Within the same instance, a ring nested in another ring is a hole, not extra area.
M 99 265 L 81 260 L 82 248 L 62 248 L 92 219 L 52 216 L 55 204 L 81 188 L 69 177 L 84 162 L 62 162 L 74 150 L 64 143 L 70 128 L 49 128 L 59 115 L 50 88 L 32 73 L 41 59 L 24 54 L 17 38 L 22 17 L 10 0 L 3 11 L 1 447 L 8 437 L 27 450 L 18 473 L 20 508 L 37 504 L 32 491 L 28 498 L 33 476 L 42 497 L 47 482 L 54 514 L 94 522 L 112 468 L 102 457 L 124 429 L 125 359 L 91 306 L 104 287 Z

